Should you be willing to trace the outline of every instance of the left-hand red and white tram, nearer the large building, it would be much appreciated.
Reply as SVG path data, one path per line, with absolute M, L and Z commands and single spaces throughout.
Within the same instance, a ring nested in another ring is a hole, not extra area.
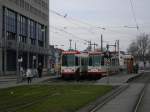
M 64 51 L 61 56 L 61 77 L 79 79 L 87 74 L 88 54 Z

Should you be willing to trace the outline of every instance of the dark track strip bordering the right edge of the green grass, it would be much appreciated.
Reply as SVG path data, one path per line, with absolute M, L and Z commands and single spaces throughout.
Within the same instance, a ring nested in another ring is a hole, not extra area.
M 129 85 L 122 85 L 119 87 L 114 87 L 111 92 L 107 93 L 106 95 L 99 97 L 96 101 L 87 104 L 86 106 L 82 107 L 81 109 L 77 110 L 76 112 L 95 112 L 97 109 L 104 106 L 107 102 L 112 100 L 114 97 L 122 93 L 126 90 Z

